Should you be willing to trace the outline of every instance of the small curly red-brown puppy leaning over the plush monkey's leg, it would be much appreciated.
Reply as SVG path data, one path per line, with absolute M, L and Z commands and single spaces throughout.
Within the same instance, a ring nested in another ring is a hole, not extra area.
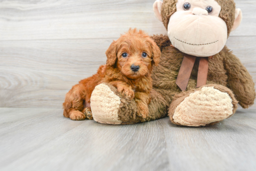
M 148 34 L 129 29 L 113 41 L 106 51 L 107 63 L 92 77 L 83 79 L 67 92 L 63 115 L 73 120 L 93 119 L 90 98 L 96 85 L 108 83 L 117 88 L 125 99 L 135 99 L 137 115 L 148 117 L 151 71 L 157 66 L 161 51 Z

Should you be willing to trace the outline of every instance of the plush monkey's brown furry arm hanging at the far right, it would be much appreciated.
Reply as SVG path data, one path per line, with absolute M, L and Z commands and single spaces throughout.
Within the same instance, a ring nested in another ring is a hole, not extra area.
M 254 104 L 255 88 L 252 77 L 241 61 L 230 52 L 225 46 L 222 50 L 224 56 L 224 66 L 228 74 L 229 88 L 236 95 L 236 99 L 243 108 L 248 108 Z

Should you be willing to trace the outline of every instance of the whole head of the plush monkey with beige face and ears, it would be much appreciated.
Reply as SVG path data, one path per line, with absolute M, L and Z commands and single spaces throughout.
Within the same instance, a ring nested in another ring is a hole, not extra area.
M 233 0 L 156 0 L 153 10 L 172 45 L 198 57 L 219 53 L 242 20 Z

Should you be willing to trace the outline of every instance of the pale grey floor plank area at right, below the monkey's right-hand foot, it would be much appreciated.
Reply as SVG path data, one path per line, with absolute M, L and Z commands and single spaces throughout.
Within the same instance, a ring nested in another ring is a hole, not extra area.
M 255 114 L 255 110 L 242 109 L 217 125 L 199 128 L 177 126 L 163 119 L 168 158 L 171 161 L 169 169 L 255 170 Z

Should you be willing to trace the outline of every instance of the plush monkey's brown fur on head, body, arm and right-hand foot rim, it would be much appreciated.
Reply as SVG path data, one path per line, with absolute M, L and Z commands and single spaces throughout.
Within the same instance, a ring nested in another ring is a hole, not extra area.
M 235 2 L 233 0 L 216 0 L 221 6 L 219 17 L 225 21 L 228 28 L 228 36 L 231 32 L 235 20 Z M 164 26 L 168 27 L 170 16 L 176 11 L 176 0 L 164 0 L 162 4 L 162 21 Z M 169 116 L 173 121 L 173 113 L 177 105 L 179 105 L 191 92 L 195 92 L 198 72 L 199 59 L 196 59 L 193 67 L 187 91 L 181 92 L 180 88 L 175 84 L 176 78 L 182 64 L 184 53 L 170 46 L 171 42 L 166 35 L 154 35 L 152 39 L 161 48 L 161 60 L 158 67 L 153 70 L 153 86 L 157 92 L 160 92 L 166 99 L 169 107 Z M 222 92 L 228 92 L 232 99 L 233 114 L 236 112 L 237 101 L 243 108 L 248 108 L 254 104 L 256 96 L 254 83 L 249 72 L 240 62 L 240 60 L 230 52 L 225 46 L 220 53 L 209 59 L 209 70 L 207 77 L 207 85 L 214 86 Z M 228 87 L 228 88 L 225 88 Z M 229 88 L 231 90 L 229 90 Z M 233 92 L 235 95 L 233 95 Z M 160 114 L 160 113 L 159 113 Z M 209 125 L 213 125 L 210 123 Z M 175 123 L 177 124 L 177 123 Z

